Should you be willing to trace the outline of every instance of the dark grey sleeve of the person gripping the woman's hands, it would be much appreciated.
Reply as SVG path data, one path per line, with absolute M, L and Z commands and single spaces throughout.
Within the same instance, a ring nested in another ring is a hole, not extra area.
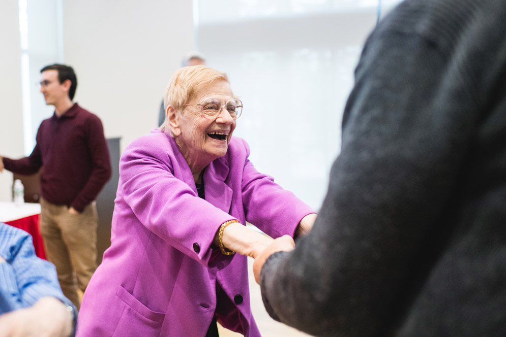
M 272 317 L 322 336 L 382 334 L 396 317 L 400 289 L 440 230 L 474 125 L 468 91 L 442 76 L 453 65 L 423 37 L 373 33 L 313 230 L 261 270 Z

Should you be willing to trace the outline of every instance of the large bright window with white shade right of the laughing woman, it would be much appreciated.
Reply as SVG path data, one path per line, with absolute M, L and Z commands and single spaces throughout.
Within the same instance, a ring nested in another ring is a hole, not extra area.
M 234 135 L 257 170 L 318 210 L 377 2 L 259 2 L 200 0 L 199 49 L 243 100 Z

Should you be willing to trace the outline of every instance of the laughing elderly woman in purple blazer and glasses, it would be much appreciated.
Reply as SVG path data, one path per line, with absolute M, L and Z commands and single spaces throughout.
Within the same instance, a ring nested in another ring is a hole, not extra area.
M 247 256 L 306 233 L 313 210 L 248 160 L 232 137 L 242 103 L 227 76 L 177 70 L 161 129 L 120 160 L 111 247 L 82 302 L 78 336 L 216 336 L 216 321 L 260 336 L 251 315 Z M 237 254 L 233 254 L 236 252 Z

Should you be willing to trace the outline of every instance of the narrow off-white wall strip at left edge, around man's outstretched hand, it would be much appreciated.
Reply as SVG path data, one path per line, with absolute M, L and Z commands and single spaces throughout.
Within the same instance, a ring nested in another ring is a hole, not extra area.
M 21 98 L 21 45 L 19 8 L 14 0 L 0 5 L 0 155 L 17 158 L 23 154 Z M 12 199 L 12 174 L 0 174 L 0 201 Z

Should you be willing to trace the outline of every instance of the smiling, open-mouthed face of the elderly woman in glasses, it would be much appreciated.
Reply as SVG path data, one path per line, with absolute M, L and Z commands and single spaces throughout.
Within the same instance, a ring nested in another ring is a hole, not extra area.
M 235 129 L 235 119 L 223 107 L 214 117 L 202 115 L 198 104 L 207 98 L 215 98 L 224 105 L 233 98 L 232 88 L 223 80 L 202 84 L 187 106 L 175 113 L 171 123 L 177 146 L 192 171 L 194 168 L 202 170 L 213 160 L 223 157 Z

